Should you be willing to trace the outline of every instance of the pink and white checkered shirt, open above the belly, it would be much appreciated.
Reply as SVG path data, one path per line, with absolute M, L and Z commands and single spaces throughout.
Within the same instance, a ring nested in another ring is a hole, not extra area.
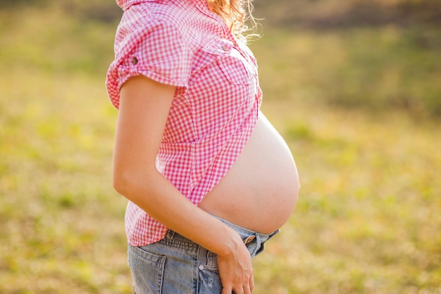
M 120 87 L 135 75 L 177 87 L 156 167 L 198 205 L 256 125 L 262 96 L 256 60 L 204 0 L 117 1 L 124 13 L 108 96 L 118 109 Z M 129 202 L 125 230 L 130 245 L 142 246 L 161 240 L 168 228 Z

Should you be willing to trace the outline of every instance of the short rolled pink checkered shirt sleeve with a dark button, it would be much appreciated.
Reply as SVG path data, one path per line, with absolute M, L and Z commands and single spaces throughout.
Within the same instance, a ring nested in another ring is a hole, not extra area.
M 121 23 L 116 33 L 115 56 L 107 73 L 106 88 L 117 109 L 120 87 L 135 75 L 187 87 L 191 72 L 190 49 L 180 29 L 173 24 L 155 19 Z

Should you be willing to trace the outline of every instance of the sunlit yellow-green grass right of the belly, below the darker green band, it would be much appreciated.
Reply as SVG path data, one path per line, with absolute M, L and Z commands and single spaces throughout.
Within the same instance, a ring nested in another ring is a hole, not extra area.
M 290 102 L 264 109 L 302 190 L 256 260 L 256 293 L 440 293 L 439 126 Z

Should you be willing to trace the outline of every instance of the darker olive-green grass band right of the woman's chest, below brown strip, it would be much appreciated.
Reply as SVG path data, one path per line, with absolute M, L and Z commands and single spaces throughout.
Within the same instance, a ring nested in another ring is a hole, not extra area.
M 441 30 L 363 27 L 268 30 L 253 49 L 275 99 L 441 116 Z

